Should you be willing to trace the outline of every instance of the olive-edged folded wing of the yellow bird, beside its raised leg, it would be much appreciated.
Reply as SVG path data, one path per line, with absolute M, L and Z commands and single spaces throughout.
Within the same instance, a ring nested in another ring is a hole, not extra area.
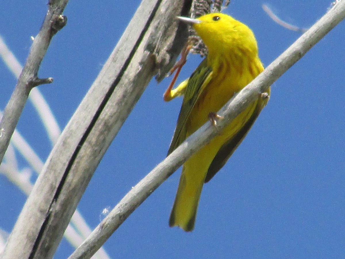
M 186 122 L 191 110 L 199 99 L 200 94 L 205 89 L 212 77 L 212 69 L 207 66 L 207 59 L 205 58 L 197 69 L 193 72 L 188 80 L 186 92 L 184 94 L 181 111 L 177 119 L 177 124 L 172 137 L 168 155 L 175 150 L 186 139 Z

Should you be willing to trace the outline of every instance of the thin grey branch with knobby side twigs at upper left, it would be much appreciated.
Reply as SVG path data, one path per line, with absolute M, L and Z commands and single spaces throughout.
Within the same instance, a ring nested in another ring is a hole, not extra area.
M 14 88 L 10 100 L 4 109 L 0 122 L 0 163 L 10 143 L 11 136 L 28 99 L 30 90 L 40 84 L 49 84 L 53 81 L 50 77 L 40 79 L 37 77 L 37 73 L 52 36 L 66 24 L 67 19 L 61 14 L 67 2 L 68 0 L 49 2 L 45 20 L 32 43 L 28 59 L 19 76 L 16 88 Z

